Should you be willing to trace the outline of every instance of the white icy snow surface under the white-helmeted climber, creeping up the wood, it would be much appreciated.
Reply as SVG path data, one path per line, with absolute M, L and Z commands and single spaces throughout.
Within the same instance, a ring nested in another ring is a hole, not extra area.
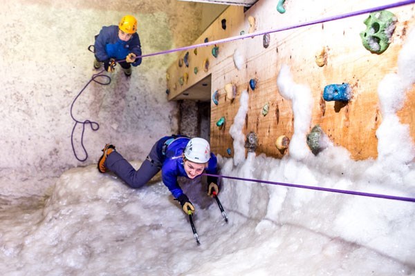
M 398 72 L 379 84 L 378 159 L 353 161 L 347 150 L 334 146 L 312 155 L 303 137 L 310 102 L 296 97 L 308 88 L 293 83 L 284 66 L 277 83 L 293 102 L 295 135 L 301 134 L 291 141 L 293 156 L 279 160 L 250 152 L 241 157 L 238 139 L 234 151 L 240 159 L 219 157 L 221 173 L 415 197 L 414 144 L 396 117 L 415 82 L 414 39 L 413 31 Z M 235 128 L 239 135 L 237 121 Z M 415 275 L 412 202 L 224 179 L 219 197 L 226 224 L 205 196 L 206 187 L 182 180 L 196 206 L 201 246 L 160 181 L 133 190 L 91 165 L 66 170 L 44 197 L 1 196 L 0 274 Z

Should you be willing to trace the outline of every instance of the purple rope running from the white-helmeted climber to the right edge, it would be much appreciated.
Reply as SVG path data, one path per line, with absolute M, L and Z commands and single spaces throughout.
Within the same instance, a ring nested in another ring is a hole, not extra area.
M 206 175 L 208 177 L 228 178 L 228 179 L 235 179 L 235 180 L 241 180 L 241 181 L 251 181 L 251 182 L 257 182 L 257 183 L 264 183 L 264 184 L 288 186 L 288 187 L 294 187 L 294 188 L 303 188 L 303 189 L 309 189 L 309 190 L 322 190 L 324 192 L 331 192 L 331 193 L 342 193 L 342 194 L 347 194 L 347 195 L 360 195 L 362 197 L 378 197 L 378 198 L 382 198 L 382 199 L 393 199 L 393 200 L 400 200 L 400 201 L 415 202 L 415 198 L 412 198 L 412 197 L 396 197 L 394 195 L 380 195 L 380 194 L 357 192 L 357 191 L 354 191 L 354 190 L 338 190 L 338 189 L 332 189 L 332 188 L 323 188 L 323 187 L 315 187 L 315 186 L 288 184 L 288 183 L 282 183 L 282 182 L 274 182 L 274 181 L 266 181 L 266 180 L 258 180 L 258 179 L 248 179 L 248 178 L 242 178 L 242 177 L 229 177 L 229 176 L 225 176 L 225 175 L 212 175 L 210 173 L 203 173 L 203 175 Z

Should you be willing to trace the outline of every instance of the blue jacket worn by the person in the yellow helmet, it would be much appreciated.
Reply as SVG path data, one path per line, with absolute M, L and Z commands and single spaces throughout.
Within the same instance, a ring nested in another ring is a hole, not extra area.
M 140 37 L 134 33 L 129 41 L 122 41 L 118 38 L 118 26 L 102 27 L 100 34 L 95 37 L 95 57 L 98 61 L 106 61 L 109 58 L 125 59 L 130 52 L 137 57 L 141 55 Z M 141 58 L 131 63 L 133 66 L 141 64 Z

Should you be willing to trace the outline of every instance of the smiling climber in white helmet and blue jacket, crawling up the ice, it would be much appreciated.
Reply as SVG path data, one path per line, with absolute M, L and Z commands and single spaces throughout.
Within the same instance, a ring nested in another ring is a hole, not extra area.
M 166 136 L 159 139 L 142 165 L 135 170 L 129 162 L 116 151 L 116 147 L 107 144 L 98 161 L 98 170 L 102 173 L 111 170 L 131 188 L 144 186 L 161 170 L 163 183 L 169 188 L 183 211 L 194 212 L 194 206 L 178 185 L 177 177 L 194 179 L 203 171 L 216 175 L 217 159 L 210 152 L 210 145 L 205 139 L 190 139 L 180 135 Z M 208 177 L 208 195 L 219 193 L 217 177 Z

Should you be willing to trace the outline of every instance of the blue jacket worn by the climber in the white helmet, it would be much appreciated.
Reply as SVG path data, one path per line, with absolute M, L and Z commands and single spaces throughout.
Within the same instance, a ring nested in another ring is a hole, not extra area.
M 161 178 L 163 183 L 172 195 L 175 198 L 178 198 L 180 195 L 183 195 L 183 190 L 178 186 L 177 177 L 187 177 L 183 164 L 183 151 L 186 148 L 187 143 L 190 138 L 188 137 L 178 137 L 172 141 L 163 155 L 163 144 L 167 139 L 172 137 L 164 137 L 158 141 L 158 156 L 160 161 L 162 161 L 163 166 L 161 167 Z M 217 173 L 217 159 L 216 156 L 210 152 L 210 159 L 208 162 L 208 168 L 205 169 L 205 172 L 216 175 Z M 187 177 L 189 178 L 189 177 Z M 214 182 L 217 184 L 217 177 L 208 177 L 208 183 Z

